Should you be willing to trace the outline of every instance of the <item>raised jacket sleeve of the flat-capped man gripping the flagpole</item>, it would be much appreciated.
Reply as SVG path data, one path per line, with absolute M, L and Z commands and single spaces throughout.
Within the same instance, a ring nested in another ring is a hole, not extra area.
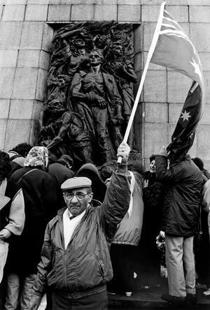
M 127 165 L 118 167 L 113 172 L 109 189 L 104 202 L 99 209 L 99 217 L 108 239 L 112 239 L 118 228 L 118 223 L 125 216 L 130 205 L 130 176 Z

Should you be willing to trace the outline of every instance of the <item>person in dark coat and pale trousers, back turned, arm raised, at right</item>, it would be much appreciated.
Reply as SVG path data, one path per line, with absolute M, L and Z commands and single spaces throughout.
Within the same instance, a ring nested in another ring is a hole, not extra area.
M 202 172 L 190 155 L 176 158 L 160 148 L 155 156 L 156 177 L 165 186 L 161 230 L 165 232 L 166 264 L 169 294 L 162 295 L 168 302 L 195 303 L 195 260 L 193 236 L 197 230 L 202 193 Z

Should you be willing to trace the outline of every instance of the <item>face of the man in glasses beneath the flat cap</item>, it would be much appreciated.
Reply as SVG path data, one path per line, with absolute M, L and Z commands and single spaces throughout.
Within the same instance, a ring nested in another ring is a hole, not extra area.
M 68 191 L 64 191 L 64 200 L 69 212 L 73 216 L 78 216 L 87 209 L 87 205 L 92 200 L 92 193 L 90 192 L 90 188 L 69 189 Z

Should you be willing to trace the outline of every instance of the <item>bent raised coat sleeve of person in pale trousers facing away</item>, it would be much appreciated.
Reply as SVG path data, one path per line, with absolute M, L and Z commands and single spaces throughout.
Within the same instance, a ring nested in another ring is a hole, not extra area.
M 161 182 L 179 182 L 183 176 L 183 163 L 177 163 L 167 169 L 167 157 L 155 155 L 156 177 Z

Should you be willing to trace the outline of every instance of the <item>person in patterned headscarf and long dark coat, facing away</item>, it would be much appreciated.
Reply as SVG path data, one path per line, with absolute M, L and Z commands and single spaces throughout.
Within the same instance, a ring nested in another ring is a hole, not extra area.
M 12 178 L 23 190 L 25 198 L 25 228 L 12 240 L 6 265 L 7 293 L 4 309 L 28 309 L 36 266 L 40 260 L 45 227 L 55 215 L 55 189 L 45 172 L 48 149 L 33 147 L 25 159 L 25 167 Z

